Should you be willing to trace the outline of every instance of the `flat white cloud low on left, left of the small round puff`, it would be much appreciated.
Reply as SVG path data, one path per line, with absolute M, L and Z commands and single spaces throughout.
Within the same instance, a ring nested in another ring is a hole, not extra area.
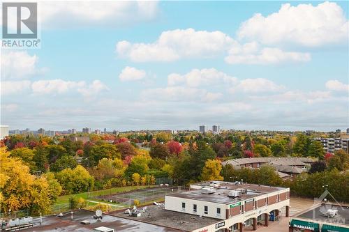
M 81 88 L 85 85 L 84 82 L 70 82 L 62 79 L 40 80 L 31 84 L 33 93 L 52 94 L 66 93 L 72 89 Z

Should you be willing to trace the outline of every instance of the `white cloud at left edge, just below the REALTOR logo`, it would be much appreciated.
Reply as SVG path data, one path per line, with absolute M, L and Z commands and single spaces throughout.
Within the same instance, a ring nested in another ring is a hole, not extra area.
M 36 67 L 38 56 L 27 52 L 2 52 L 1 79 L 27 79 L 45 71 Z

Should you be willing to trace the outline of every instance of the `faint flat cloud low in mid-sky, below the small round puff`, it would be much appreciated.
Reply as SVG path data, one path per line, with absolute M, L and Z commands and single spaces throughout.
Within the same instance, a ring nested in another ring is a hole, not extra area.
M 142 91 L 142 99 L 173 102 L 212 102 L 223 96 L 222 93 L 211 93 L 204 89 L 185 86 L 170 86 L 166 88 L 152 88 Z

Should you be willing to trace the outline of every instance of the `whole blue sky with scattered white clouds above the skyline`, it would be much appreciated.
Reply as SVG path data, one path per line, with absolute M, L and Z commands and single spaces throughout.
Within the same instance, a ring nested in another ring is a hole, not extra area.
M 345 130 L 348 1 L 39 1 L 1 49 L 10 130 Z

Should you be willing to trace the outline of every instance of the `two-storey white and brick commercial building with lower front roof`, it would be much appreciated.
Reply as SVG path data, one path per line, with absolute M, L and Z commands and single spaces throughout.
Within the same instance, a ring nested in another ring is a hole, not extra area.
M 290 189 L 246 183 L 211 181 L 196 183 L 191 190 L 168 194 L 163 208 L 148 207 L 140 222 L 168 226 L 180 231 L 251 231 L 278 221 L 290 210 Z

